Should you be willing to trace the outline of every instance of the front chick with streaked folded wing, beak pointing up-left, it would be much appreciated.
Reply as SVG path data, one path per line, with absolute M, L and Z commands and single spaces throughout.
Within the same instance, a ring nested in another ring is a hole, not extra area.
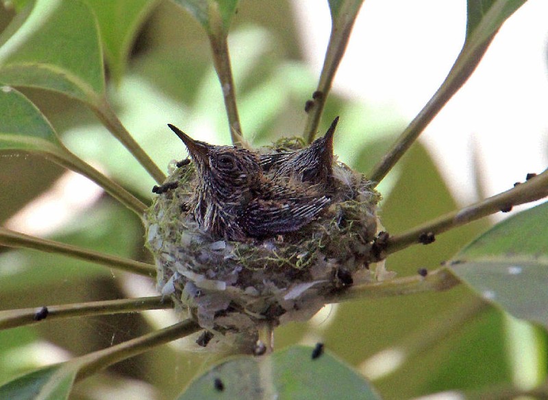
M 242 241 L 297 231 L 329 204 L 329 198 L 264 176 L 258 154 L 235 146 L 196 141 L 168 124 L 196 167 L 192 213 L 214 238 Z

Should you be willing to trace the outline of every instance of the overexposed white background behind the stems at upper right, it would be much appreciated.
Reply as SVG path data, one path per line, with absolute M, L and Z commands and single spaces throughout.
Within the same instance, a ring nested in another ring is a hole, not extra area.
M 327 1 L 293 2 L 306 57 L 321 71 Z M 462 204 L 477 200 L 474 152 L 487 196 L 547 167 L 548 1 L 529 0 L 506 21 L 469 82 L 421 140 Z M 410 121 L 443 82 L 466 28 L 463 0 L 367 0 L 334 91 L 384 105 Z

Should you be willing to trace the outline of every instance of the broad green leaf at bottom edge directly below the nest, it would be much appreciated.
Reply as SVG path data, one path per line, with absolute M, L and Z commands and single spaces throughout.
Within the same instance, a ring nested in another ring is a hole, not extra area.
M 292 346 L 266 357 L 238 357 L 223 362 L 190 384 L 179 400 L 379 399 L 349 366 L 329 353 L 313 360 L 312 351 Z

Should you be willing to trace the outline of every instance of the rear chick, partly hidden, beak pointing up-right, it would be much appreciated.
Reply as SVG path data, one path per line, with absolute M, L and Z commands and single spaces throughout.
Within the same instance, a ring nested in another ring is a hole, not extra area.
M 333 184 L 333 136 L 338 123 L 334 119 L 325 135 L 316 139 L 307 148 L 293 152 L 263 154 L 260 157 L 262 169 L 272 178 L 293 177 L 312 185 Z

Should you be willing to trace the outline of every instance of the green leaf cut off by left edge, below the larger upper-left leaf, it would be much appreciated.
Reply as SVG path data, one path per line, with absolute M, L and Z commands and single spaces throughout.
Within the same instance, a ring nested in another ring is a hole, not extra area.
M 61 151 L 60 141 L 44 115 L 10 86 L 0 88 L 0 115 L 0 151 Z

